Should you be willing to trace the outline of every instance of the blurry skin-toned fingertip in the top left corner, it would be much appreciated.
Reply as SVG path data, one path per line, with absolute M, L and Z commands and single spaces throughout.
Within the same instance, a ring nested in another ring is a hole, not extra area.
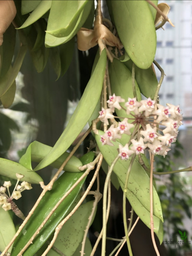
M 3 33 L 15 18 L 16 7 L 13 0 L 0 1 L 0 46 L 3 43 Z

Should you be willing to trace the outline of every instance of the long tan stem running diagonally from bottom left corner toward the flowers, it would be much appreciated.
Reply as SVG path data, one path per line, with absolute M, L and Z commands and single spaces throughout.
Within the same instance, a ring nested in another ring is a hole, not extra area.
M 17 236 L 19 235 L 19 233 L 22 231 L 24 225 L 26 225 L 26 223 L 29 221 L 30 217 L 33 215 L 35 209 L 37 208 L 38 204 L 40 203 L 42 197 L 44 197 L 45 193 L 47 193 L 48 190 L 52 189 L 52 186 L 55 182 L 55 180 L 58 178 L 59 174 L 61 173 L 61 171 L 63 170 L 63 168 L 65 167 L 66 163 L 69 161 L 70 158 L 72 158 L 74 152 L 76 152 L 77 148 L 79 148 L 80 144 L 83 142 L 83 140 L 87 137 L 87 135 L 90 133 L 92 129 L 92 126 L 89 127 L 89 129 L 86 131 L 86 133 L 84 133 L 83 137 L 80 139 L 79 143 L 77 143 L 77 145 L 73 148 L 73 150 L 70 152 L 69 156 L 65 159 L 65 161 L 62 163 L 61 167 L 58 169 L 58 171 L 55 173 L 54 177 L 52 178 L 51 182 L 49 182 L 49 184 L 47 186 L 43 187 L 43 190 L 40 194 L 40 197 L 38 198 L 38 200 L 35 202 L 33 208 L 31 209 L 31 211 L 29 212 L 29 214 L 27 215 L 26 219 L 24 219 L 22 225 L 20 225 L 19 229 L 17 230 L 15 236 L 13 236 L 12 240 L 9 242 L 8 246 L 5 247 L 5 250 L 2 252 L 2 256 L 5 256 L 6 252 L 9 250 L 10 246 L 12 246 L 13 242 L 16 240 Z

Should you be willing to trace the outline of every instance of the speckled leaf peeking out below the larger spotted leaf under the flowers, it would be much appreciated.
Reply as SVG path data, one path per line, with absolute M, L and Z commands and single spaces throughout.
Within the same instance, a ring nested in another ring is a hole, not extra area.
M 124 189 L 124 183 L 122 182 L 122 180 L 119 179 L 119 183 L 122 189 Z M 133 207 L 134 212 L 136 212 L 136 214 L 140 217 L 141 221 L 143 221 L 144 224 L 148 226 L 148 228 L 150 229 L 151 228 L 150 211 L 148 211 L 145 207 L 143 207 L 141 202 L 137 199 L 137 197 L 133 193 L 131 193 L 130 190 L 127 190 L 126 196 L 131 204 L 131 207 Z M 154 232 L 155 234 L 157 234 L 159 243 L 161 244 L 163 241 L 163 223 L 161 219 L 157 218 L 154 215 L 153 217 L 154 217 Z

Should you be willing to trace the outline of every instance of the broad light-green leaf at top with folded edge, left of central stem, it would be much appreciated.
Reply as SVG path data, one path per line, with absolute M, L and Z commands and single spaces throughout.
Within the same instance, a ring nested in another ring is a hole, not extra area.
M 55 37 L 67 37 L 73 31 L 81 11 L 87 4 L 92 5 L 93 1 L 53 1 L 49 14 L 47 33 Z

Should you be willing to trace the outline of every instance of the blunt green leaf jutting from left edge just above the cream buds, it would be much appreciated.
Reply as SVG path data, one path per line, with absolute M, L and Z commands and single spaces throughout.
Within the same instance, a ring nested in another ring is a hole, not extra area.
M 20 163 L 0 158 L 0 175 L 17 180 L 16 173 L 24 175 L 23 179 L 21 179 L 22 181 L 25 180 L 26 182 L 33 184 L 43 182 L 42 178 L 37 173 L 31 172 L 30 169 L 20 165 Z

